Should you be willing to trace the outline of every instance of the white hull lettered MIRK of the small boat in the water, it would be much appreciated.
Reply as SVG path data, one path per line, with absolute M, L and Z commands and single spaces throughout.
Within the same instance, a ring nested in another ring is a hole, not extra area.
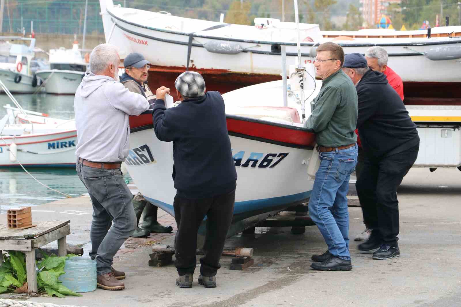
M 17 145 L 16 160 L 11 158 L 12 142 Z M 8 145 L 8 146 L 6 146 Z M 0 140 L 0 167 L 75 167 L 77 131 L 24 136 L 2 136 Z

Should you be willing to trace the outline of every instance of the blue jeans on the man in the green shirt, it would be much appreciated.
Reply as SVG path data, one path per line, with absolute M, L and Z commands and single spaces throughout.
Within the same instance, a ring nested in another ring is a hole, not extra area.
M 309 216 L 325 239 L 333 256 L 350 260 L 349 211 L 347 192 L 349 177 L 357 164 L 355 146 L 319 153 L 320 166 L 309 200 Z

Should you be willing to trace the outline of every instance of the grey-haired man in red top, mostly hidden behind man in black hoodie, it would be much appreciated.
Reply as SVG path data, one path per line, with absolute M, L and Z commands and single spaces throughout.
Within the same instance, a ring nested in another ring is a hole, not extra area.
M 373 46 L 366 50 L 365 52 L 365 59 L 373 71 L 382 72 L 386 75 L 387 82 L 389 85 L 396 90 L 397 94 L 399 94 L 400 99 L 403 101 L 403 83 L 402 78 L 396 74 L 395 71 L 390 69 L 387 66 L 388 54 L 387 51 L 383 47 Z M 358 130 L 355 130 L 355 133 L 358 133 Z M 358 156 L 358 163 L 355 167 L 355 175 L 357 179 L 360 176 L 361 166 L 363 162 L 363 149 L 360 141 L 360 137 L 357 137 L 357 144 L 359 145 L 359 156 Z M 355 237 L 355 241 L 366 241 L 370 237 L 371 230 L 366 228 L 360 235 Z

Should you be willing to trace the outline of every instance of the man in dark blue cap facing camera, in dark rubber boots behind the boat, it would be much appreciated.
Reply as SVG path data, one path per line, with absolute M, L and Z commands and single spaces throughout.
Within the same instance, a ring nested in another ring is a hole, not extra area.
M 152 109 L 155 104 L 155 95 L 147 85 L 148 71 L 150 62 L 144 58 L 141 53 L 130 53 L 124 59 L 125 72 L 122 75 L 121 83 L 130 92 L 138 93 L 146 97 L 149 102 L 149 108 Z M 142 215 L 141 227 L 136 226 L 132 237 L 147 237 L 151 232 L 171 232 L 171 226 L 164 227 L 157 222 L 157 211 L 159 208 L 152 205 L 141 193 L 133 198 L 133 207 L 135 208 L 137 223 Z

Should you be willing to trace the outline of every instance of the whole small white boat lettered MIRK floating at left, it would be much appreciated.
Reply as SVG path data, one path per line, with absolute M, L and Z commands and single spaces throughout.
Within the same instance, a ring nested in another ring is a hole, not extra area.
M 4 106 L 0 120 L 0 167 L 75 167 L 75 120 Z

